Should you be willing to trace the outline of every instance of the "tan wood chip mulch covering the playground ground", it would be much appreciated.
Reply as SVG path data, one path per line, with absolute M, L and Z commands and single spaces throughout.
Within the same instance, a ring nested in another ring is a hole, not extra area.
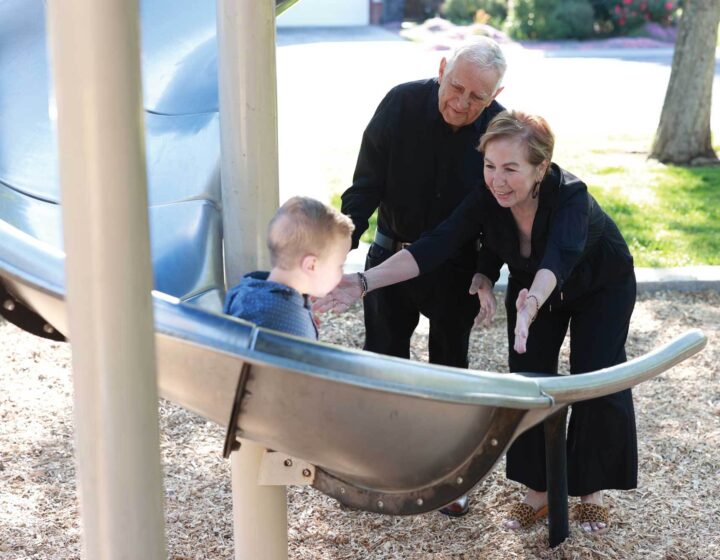
M 640 296 L 627 349 L 635 357 L 696 327 L 708 347 L 634 390 L 639 487 L 606 492 L 607 535 L 574 526 L 569 540 L 549 550 L 546 523 L 502 530 L 503 512 L 522 489 L 505 480 L 500 464 L 472 492 L 471 513 L 456 520 L 348 511 L 312 488 L 290 488 L 290 558 L 720 559 L 720 294 Z M 324 340 L 359 347 L 362 338 L 360 310 L 326 319 Z M 473 334 L 471 367 L 507 371 L 505 344 L 500 311 L 490 329 Z M 423 324 L 413 358 L 427 359 Z M 167 401 L 160 417 L 169 558 L 233 558 L 224 429 Z M 72 423 L 69 346 L 0 322 L 1 560 L 79 558 Z

